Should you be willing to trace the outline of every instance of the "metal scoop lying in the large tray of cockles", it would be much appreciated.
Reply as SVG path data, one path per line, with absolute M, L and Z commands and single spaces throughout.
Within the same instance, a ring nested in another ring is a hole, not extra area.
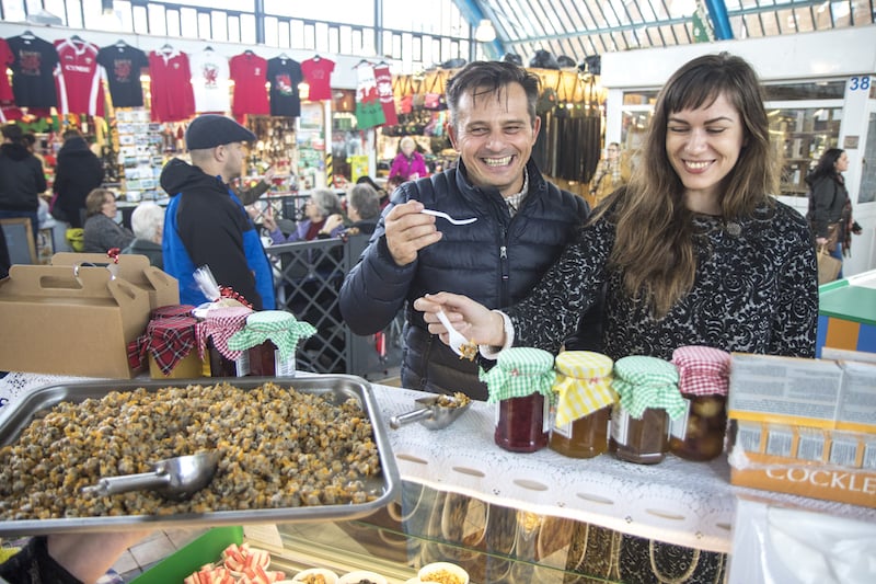
M 97 484 L 83 488 L 82 492 L 103 496 L 151 490 L 166 499 L 187 499 L 209 484 L 218 465 L 218 453 L 177 456 L 159 460 L 152 472 L 105 477 Z

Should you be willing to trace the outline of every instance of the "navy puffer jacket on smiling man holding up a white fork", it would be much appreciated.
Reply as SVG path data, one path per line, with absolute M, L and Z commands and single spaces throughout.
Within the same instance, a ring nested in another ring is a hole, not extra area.
M 460 360 L 430 335 L 422 313 L 413 310 L 411 302 L 445 290 L 464 294 L 493 309 L 527 296 L 588 215 L 583 198 L 546 182 L 531 159 L 527 172 L 529 194 L 514 218 L 498 190 L 469 183 L 461 161 L 458 169 L 405 183 L 393 193 L 393 205 L 417 199 L 426 208 L 452 217 L 477 218 L 468 226 L 437 219 L 443 238 L 401 267 L 390 255 L 381 218 L 370 244 L 344 282 L 341 312 L 356 334 L 381 331 L 407 301 L 404 387 L 486 398 L 486 388 L 477 379 L 477 364 Z

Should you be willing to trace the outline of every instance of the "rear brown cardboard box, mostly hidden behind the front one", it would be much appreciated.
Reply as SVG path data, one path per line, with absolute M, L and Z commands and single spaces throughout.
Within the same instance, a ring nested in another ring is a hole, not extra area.
M 61 252 L 51 256 L 51 265 L 67 265 L 73 268 L 87 264 L 111 266 L 112 262 L 103 253 Z M 111 272 L 114 272 L 116 277 L 126 279 L 148 291 L 151 308 L 180 304 L 180 285 L 176 278 L 149 265 L 149 259 L 146 255 L 119 255 L 118 263 L 112 264 Z

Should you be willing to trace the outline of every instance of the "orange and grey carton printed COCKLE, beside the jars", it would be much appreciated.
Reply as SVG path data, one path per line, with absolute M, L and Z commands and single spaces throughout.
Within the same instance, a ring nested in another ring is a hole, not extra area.
M 734 354 L 730 482 L 876 507 L 876 365 Z

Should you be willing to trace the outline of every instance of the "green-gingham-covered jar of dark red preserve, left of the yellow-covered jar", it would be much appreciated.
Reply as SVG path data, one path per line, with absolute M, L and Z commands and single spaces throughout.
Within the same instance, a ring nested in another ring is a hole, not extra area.
M 533 347 L 499 353 L 496 366 L 481 371 L 487 402 L 496 404 L 494 439 L 506 450 L 534 453 L 548 446 L 554 357 Z

